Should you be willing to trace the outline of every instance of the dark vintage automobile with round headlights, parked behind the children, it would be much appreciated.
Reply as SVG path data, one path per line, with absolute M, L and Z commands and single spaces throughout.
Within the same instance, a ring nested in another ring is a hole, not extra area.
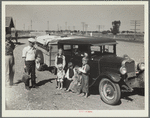
M 141 62 L 136 66 L 135 61 L 128 55 L 118 57 L 116 55 L 117 42 L 114 39 L 82 36 L 59 39 L 56 44 L 47 46 L 49 47 L 47 50 L 49 62 L 54 61 L 54 58 L 50 59 L 54 49 L 51 48 L 52 45 L 64 50 L 67 63 L 73 62 L 78 66 L 82 66 L 83 53 L 88 53 L 89 87 L 95 86 L 99 90 L 101 99 L 107 104 L 117 104 L 122 92 L 144 88 L 144 63 Z

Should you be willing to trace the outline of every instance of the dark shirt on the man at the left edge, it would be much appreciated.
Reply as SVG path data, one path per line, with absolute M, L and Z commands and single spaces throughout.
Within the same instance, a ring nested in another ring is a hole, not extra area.
M 13 42 L 5 43 L 5 55 L 13 55 L 13 50 L 15 49 L 15 45 Z

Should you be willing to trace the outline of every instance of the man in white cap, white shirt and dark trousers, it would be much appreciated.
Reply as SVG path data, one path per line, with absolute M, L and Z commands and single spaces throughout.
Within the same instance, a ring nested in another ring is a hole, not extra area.
M 32 88 L 38 88 L 35 82 L 35 59 L 36 59 L 36 48 L 34 47 L 35 39 L 29 38 L 29 45 L 23 49 L 22 58 L 24 58 L 25 68 L 27 73 L 31 74 Z M 25 82 L 25 87 L 29 90 L 29 79 Z

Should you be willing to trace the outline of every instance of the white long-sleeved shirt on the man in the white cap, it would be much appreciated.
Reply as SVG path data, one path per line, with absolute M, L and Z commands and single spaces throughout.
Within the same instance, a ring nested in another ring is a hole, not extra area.
M 22 58 L 25 58 L 25 61 L 34 61 L 36 58 L 36 48 L 27 46 L 22 51 Z

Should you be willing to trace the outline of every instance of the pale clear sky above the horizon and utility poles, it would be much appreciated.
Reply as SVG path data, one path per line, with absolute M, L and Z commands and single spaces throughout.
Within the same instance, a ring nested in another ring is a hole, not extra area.
M 144 5 L 6 5 L 18 30 L 110 30 L 113 21 L 121 21 L 120 31 L 134 29 L 131 20 L 139 20 L 138 31 L 144 31 Z M 49 22 L 49 23 L 48 23 Z M 49 25 L 48 25 L 49 24 Z M 85 30 L 85 29 L 84 29 Z

